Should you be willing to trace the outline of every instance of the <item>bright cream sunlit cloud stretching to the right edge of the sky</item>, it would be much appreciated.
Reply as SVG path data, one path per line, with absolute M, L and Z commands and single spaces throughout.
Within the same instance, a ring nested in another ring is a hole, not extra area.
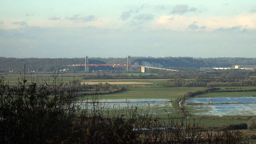
M 196 24 L 194 23 L 196 21 Z M 187 30 L 195 29 L 196 26 L 201 30 L 217 30 L 220 28 L 235 30 L 237 26 L 240 29 L 253 30 L 256 29 L 256 13 L 241 13 L 229 16 L 186 16 L 186 15 L 162 15 L 152 22 L 152 28 L 157 29 L 172 29 L 172 30 Z M 190 27 L 188 27 L 190 26 Z

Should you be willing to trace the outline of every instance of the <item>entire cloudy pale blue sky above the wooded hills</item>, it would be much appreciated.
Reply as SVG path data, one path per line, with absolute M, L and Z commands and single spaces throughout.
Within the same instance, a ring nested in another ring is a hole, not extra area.
M 0 1 L 0 57 L 256 55 L 256 1 Z

